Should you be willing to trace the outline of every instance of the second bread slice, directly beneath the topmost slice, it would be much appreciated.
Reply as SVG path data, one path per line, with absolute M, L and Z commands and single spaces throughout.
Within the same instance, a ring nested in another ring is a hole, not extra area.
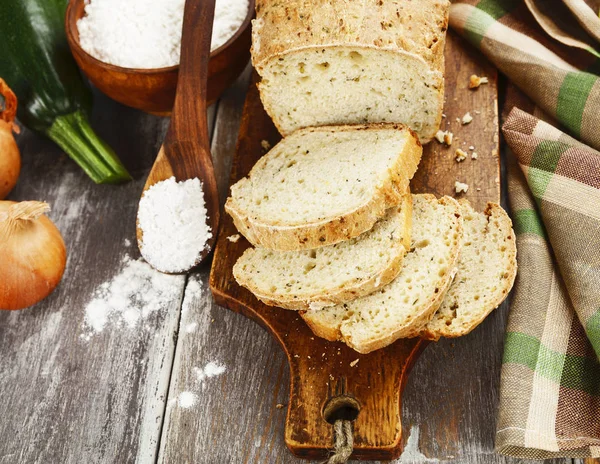
M 410 247 L 412 197 L 352 240 L 315 250 L 249 248 L 233 267 L 237 282 L 264 303 L 321 309 L 368 295 L 394 280 Z

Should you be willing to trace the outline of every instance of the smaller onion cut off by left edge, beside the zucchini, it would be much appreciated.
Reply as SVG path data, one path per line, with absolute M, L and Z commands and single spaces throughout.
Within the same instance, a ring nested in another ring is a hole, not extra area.
M 19 132 L 14 123 L 16 113 L 17 97 L 0 79 L 0 200 L 13 189 L 21 171 L 19 147 L 12 134 Z

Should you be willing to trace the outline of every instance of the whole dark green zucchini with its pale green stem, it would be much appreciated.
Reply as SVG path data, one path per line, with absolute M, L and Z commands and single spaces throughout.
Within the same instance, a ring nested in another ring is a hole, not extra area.
M 26 127 L 56 142 L 96 183 L 131 176 L 89 123 L 92 95 L 64 30 L 67 0 L 0 0 L 0 77 Z

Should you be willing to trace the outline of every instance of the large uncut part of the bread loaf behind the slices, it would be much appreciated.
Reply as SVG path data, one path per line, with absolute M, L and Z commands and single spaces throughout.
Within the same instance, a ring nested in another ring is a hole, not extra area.
M 393 122 L 423 143 L 440 124 L 448 0 L 259 0 L 252 62 L 282 135 Z

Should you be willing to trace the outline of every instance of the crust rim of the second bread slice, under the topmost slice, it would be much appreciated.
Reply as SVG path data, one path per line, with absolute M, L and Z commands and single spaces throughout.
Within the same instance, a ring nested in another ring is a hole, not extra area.
M 387 285 L 396 278 L 402 268 L 402 261 L 410 248 L 410 231 L 412 223 L 412 196 L 410 193 L 404 195 L 402 199 L 402 209 L 404 224 L 402 227 L 402 235 L 399 237 L 403 252 L 393 257 L 387 263 L 387 267 L 381 272 L 371 275 L 366 280 L 353 282 L 353 285 L 332 289 L 318 295 L 303 295 L 302 297 L 294 298 L 291 295 L 274 293 L 261 293 L 261 291 L 252 284 L 251 281 L 244 278 L 244 274 L 238 271 L 237 263 L 233 267 L 233 275 L 242 287 L 250 290 L 254 296 L 269 306 L 278 306 L 280 308 L 291 309 L 296 311 L 302 310 L 319 310 L 328 306 L 335 306 L 354 300 L 361 296 L 373 293 L 375 290 Z M 246 250 L 244 253 L 252 252 Z M 239 262 L 239 261 L 238 261 Z

